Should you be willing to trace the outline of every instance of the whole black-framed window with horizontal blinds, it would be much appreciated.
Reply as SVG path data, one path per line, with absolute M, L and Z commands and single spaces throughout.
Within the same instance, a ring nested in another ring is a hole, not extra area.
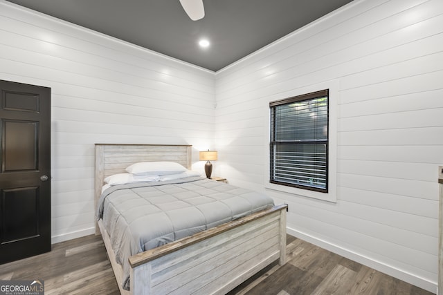
M 270 182 L 328 192 L 329 90 L 269 103 Z

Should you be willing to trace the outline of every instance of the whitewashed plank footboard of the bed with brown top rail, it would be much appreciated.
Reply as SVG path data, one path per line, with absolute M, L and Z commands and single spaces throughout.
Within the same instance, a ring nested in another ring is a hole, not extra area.
M 283 265 L 286 207 L 275 206 L 131 256 L 130 294 L 226 294 L 273 261 Z M 108 245 L 107 251 L 112 251 Z M 115 267 L 117 276 L 121 267 Z M 117 281 L 120 287 L 121 278 Z M 120 292 L 129 294 L 121 287 Z

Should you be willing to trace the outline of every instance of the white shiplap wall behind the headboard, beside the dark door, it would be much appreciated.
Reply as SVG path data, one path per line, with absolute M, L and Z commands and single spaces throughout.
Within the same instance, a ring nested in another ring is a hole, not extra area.
M 93 233 L 95 143 L 213 144 L 213 72 L 6 1 L 0 79 L 51 87 L 53 242 Z

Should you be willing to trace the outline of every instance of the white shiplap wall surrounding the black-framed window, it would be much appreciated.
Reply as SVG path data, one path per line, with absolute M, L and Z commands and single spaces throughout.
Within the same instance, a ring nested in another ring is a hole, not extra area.
M 289 232 L 435 292 L 443 1 L 354 1 L 216 73 L 217 173 Z M 269 102 L 338 85 L 337 200 L 265 189 Z

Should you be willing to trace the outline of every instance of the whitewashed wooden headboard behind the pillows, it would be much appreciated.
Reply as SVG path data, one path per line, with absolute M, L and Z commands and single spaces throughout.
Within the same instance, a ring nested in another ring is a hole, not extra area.
M 171 161 L 191 169 L 191 152 L 191 145 L 96 144 L 94 204 L 97 206 L 107 176 L 125 173 L 126 167 L 136 162 Z

